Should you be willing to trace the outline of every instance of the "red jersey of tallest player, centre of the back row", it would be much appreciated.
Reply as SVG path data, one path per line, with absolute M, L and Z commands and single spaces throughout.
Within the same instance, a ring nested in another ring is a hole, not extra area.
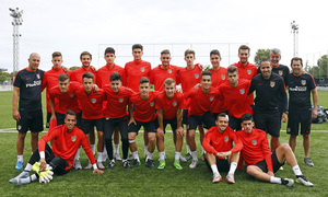
M 134 92 L 139 91 L 139 82 L 141 77 L 149 78 L 152 66 L 150 62 L 141 61 L 129 61 L 125 66 L 127 76 L 127 86 L 132 89 Z

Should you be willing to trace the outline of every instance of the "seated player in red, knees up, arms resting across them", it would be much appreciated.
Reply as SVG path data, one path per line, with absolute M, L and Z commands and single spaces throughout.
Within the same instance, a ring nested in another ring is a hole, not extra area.
M 222 181 L 220 170 L 229 172 L 225 179 L 234 184 L 234 174 L 237 169 L 243 143 L 237 138 L 235 131 L 227 126 L 229 116 L 225 113 L 220 113 L 216 116 L 215 123 L 218 126 L 210 128 L 202 141 L 202 147 L 207 151 L 206 163 L 213 172 L 213 183 Z M 235 143 L 235 147 L 232 147 L 232 142 Z

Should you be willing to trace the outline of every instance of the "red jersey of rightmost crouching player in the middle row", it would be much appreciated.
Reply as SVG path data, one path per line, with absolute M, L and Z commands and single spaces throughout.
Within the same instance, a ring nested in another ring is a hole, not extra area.
M 232 86 L 229 81 L 219 86 L 221 96 L 225 101 L 230 116 L 242 118 L 245 113 L 253 114 L 251 106 L 247 104 L 249 86 L 250 81 L 242 79 L 238 80 L 237 86 Z

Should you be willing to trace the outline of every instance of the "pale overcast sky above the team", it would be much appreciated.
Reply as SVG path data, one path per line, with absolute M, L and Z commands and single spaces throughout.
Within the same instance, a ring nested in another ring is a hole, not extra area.
M 209 63 L 209 53 L 215 48 L 223 57 L 221 65 L 227 67 L 238 60 L 241 44 L 250 47 L 250 62 L 259 48 L 280 48 L 280 62 L 289 65 L 292 21 L 298 24 L 298 56 L 315 65 L 328 53 L 327 5 L 326 0 L 1 0 L 0 68 L 12 71 L 9 8 L 24 10 L 20 69 L 27 67 L 31 53 L 38 53 L 39 68 L 49 70 L 56 50 L 62 53 L 67 67 L 81 66 L 80 54 L 87 50 L 93 54 L 92 65 L 99 68 L 105 65 L 107 46 L 116 48 L 116 62 L 124 67 L 132 60 L 131 45 L 136 43 L 145 45 L 143 59 L 153 67 L 165 48 L 172 49 L 173 63 L 186 66 L 183 51 L 190 44 L 196 62 L 202 65 Z

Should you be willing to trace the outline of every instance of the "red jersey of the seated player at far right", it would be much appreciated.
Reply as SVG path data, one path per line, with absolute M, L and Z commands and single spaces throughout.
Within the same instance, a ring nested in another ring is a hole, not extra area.
M 238 130 L 236 134 L 244 146 L 242 158 L 246 166 L 255 165 L 266 160 L 268 171 L 273 172 L 267 134 L 260 129 L 253 129 L 250 134 L 247 134 L 245 130 Z

